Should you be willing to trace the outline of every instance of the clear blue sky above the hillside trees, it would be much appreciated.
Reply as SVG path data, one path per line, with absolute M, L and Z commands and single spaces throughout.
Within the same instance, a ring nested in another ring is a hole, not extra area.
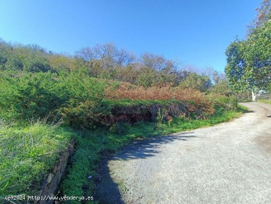
M 73 54 L 113 42 L 222 71 L 261 0 L 0 0 L 0 38 Z

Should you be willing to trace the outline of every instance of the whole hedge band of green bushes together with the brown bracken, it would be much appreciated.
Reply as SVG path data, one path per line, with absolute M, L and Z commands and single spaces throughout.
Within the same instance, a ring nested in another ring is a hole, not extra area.
M 62 119 L 76 128 L 94 128 L 106 122 L 104 117 L 111 117 L 113 107 L 132 107 L 139 102 L 148 107 L 160 105 L 157 109 L 162 108 L 165 113 L 173 113 L 172 104 L 176 108 L 180 107 L 177 106 L 180 103 L 184 108 L 179 115 L 171 115 L 174 117 L 190 117 L 192 112 L 195 117 L 204 117 L 214 111 L 212 103 L 195 89 L 170 86 L 145 88 L 97 80 L 89 77 L 85 69 L 60 74 L 22 72 L 19 76 L 0 73 L 0 97 L 0 117 L 6 120 Z M 122 104 L 122 101 L 126 103 Z

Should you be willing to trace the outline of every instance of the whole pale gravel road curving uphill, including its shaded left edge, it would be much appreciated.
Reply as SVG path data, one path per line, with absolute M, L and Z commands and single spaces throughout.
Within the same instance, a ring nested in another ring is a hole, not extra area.
M 271 105 L 213 127 L 136 142 L 109 160 L 104 204 L 271 204 Z

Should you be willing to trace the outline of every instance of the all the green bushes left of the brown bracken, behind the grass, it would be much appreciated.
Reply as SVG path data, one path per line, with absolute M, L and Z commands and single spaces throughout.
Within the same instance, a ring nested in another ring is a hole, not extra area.
M 108 114 L 103 104 L 105 83 L 89 77 L 83 70 L 60 75 L 23 72 L 20 76 L 0 73 L 0 117 L 43 119 L 78 127 L 93 125 Z

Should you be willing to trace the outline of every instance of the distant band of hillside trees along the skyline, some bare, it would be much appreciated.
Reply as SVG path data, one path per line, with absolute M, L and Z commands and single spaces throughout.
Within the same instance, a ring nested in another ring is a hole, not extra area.
M 12 44 L 0 39 L 0 71 L 54 73 L 80 68 L 84 68 L 91 77 L 144 87 L 178 86 L 181 83 L 183 87 L 206 90 L 211 82 L 216 83 L 223 76 L 212 68 L 203 74 L 199 68 L 181 67 L 163 55 L 145 52 L 136 56 L 112 43 L 85 47 L 75 55 L 65 55 L 47 52 L 38 45 Z M 186 78 L 189 79 L 185 81 Z

